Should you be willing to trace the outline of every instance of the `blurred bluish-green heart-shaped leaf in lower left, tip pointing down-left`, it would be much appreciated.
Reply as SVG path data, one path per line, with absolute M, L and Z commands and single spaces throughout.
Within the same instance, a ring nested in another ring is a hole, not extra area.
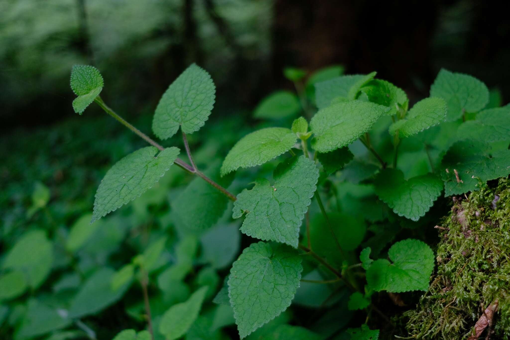
M 82 318 L 94 314 L 119 300 L 129 287 L 129 282 L 117 290 L 112 288 L 115 271 L 100 268 L 90 276 L 76 294 L 69 307 L 69 318 Z

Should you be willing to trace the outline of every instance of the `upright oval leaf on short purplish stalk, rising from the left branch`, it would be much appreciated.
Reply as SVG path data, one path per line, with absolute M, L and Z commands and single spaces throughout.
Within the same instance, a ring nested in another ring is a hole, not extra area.
M 213 110 L 215 93 L 209 73 L 191 64 L 161 97 L 152 120 L 152 131 L 160 139 L 175 135 L 179 126 L 186 134 L 198 131 Z

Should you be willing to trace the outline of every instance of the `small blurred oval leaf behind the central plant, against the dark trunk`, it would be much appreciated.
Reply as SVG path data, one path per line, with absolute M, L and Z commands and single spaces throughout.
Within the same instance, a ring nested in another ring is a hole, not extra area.
M 260 102 L 253 117 L 281 119 L 295 116 L 301 110 L 297 96 L 290 91 L 273 92 Z

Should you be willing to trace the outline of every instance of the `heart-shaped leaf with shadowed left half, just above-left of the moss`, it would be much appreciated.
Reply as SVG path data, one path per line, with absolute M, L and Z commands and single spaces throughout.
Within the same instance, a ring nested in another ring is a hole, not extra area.
M 396 169 L 384 169 L 375 177 L 375 192 L 398 216 L 418 221 L 441 195 L 443 184 L 436 175 L 404 179 Z

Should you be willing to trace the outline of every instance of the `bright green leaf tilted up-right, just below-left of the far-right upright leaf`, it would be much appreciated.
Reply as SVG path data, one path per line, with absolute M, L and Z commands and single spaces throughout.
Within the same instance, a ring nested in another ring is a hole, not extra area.
M 404 119 L 390 126 L 390 134 L 398 131 L 400 138 L 416 135 L 423 130 L 438 125 L 446 119 L 446 102 L 441 98 L 425 98 L 418 101 Z

